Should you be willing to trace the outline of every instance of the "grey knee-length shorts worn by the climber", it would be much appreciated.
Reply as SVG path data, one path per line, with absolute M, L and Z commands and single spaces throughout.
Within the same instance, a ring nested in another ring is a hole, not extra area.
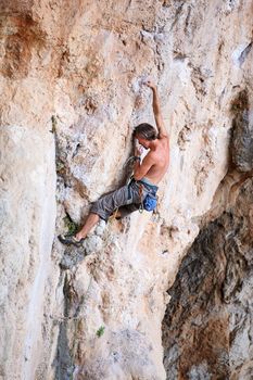
M 142 190 L 140 190 L 141 185 Z M 146 183 L 132 179 L 129 185 L 123 186 L 92 203 L 90 213 L 97 214 L 101 219 L 107 221 L 113 212 L 118 208 L 121 217 L 125 217 L 140 208 L 148 192 L 149 188 Z

